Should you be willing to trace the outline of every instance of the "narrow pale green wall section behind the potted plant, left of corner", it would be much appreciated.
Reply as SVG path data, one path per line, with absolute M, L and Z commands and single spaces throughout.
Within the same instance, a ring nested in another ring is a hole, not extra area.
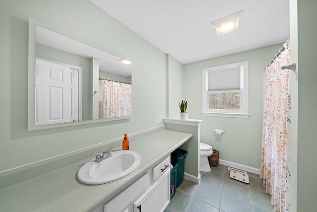
M 184 96 L 184 65 L 172 56 L 166 55 L 167 60 L 167 111 L 168 118 L 180 118 L 178 102 Z

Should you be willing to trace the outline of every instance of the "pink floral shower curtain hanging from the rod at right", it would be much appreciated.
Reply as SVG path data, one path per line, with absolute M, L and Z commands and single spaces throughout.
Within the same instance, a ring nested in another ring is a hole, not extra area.
M 285 47 L 285 44 L 284 44 Z M 290 49 L 265 69 L 264 122 L 260 178 L 275 212 L 290 211 Z

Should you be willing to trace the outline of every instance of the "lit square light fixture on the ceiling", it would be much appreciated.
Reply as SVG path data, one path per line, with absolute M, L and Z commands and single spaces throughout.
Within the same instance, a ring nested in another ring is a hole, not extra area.
M 231 32 L 241 27 L 242 14 L 243 14 L 243 10 L 233 13 L 231 15 L 225 16 L 218 20 L 212 21 L 211 24 L 215 26 L 217 35 L 221 35 L 226 32 Z

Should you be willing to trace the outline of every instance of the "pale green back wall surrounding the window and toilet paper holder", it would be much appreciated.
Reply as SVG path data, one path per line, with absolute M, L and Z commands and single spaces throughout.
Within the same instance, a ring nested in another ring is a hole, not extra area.
M 203 120 L 201 141 L 220 151 L 220 159 L 259 168 L 263 125 L 264 68 L 282 48 L 282 44 L 213 58 L 184 66 L 184 92 L 188 100 L 189 117 Z M 202 69 L 249 61 L 250 118 L 202 116 Z M 213 129 L 222 129 L 214 136 Z

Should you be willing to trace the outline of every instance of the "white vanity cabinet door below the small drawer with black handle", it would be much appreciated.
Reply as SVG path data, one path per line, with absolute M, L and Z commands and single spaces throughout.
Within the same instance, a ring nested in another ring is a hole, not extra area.
M 163 212 L 170 202 L 170 170 L 134 203 L 134 212 Z

